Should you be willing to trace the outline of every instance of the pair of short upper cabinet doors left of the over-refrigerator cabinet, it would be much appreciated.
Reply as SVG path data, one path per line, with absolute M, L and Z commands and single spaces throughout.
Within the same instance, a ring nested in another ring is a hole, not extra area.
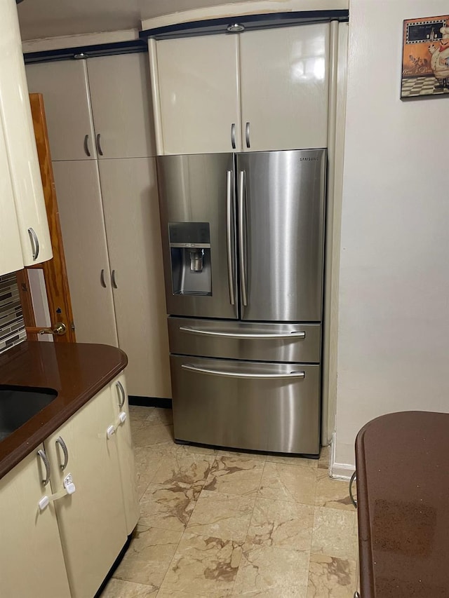
M 42 93 L 53 161 L 154 156 L 148 61 L 143 54 L 27 65 Z

